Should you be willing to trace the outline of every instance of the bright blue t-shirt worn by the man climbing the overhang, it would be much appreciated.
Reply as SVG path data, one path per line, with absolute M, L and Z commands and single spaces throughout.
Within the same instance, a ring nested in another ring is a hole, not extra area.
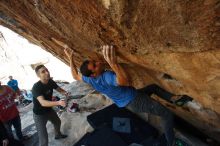
M 116 74 L 112 71 L 105 71 L 98 77 L 82 76 L 82 80 L 111 98 L 118 107 L 125 107 L 137 94 L 134 87 L 118 86 Z

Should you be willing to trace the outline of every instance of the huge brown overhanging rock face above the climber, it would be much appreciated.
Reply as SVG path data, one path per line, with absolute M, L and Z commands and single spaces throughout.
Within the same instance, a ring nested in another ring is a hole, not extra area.
M 0 23 L 68 63 L 66 43 L 77 66 L 114 44 L 135 87 L 192 96 L 190 107 L 164 104 L 220 139 L 219 0 L 1 0 Z

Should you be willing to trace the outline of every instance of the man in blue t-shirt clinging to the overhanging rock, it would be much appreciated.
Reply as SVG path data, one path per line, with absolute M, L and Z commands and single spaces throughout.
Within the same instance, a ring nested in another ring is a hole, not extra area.
M 73 51 L 66 45 L 65 53 L 70 59 L 72 76 L 79 81 L 84 81 L 100 93 L 106 95 L 118 107 L 127 107 L 136 112 L 147 112 L 161 117 L 163 130 L 168 146 L 174 144 L 173 115 L 159 102 L 150 96 L 154 93 L 159 97 L 175 102 L 179 96 L 162 89 L 156 84 L 146 86 L 142 89 L 135 89 L 125 70 L 118 64 L 115 49 L 112 46 L 103 46 L 103 56 L 113 71 L 107 71 L 100 61 L 86 60 L 80 67 L 78 73 Z

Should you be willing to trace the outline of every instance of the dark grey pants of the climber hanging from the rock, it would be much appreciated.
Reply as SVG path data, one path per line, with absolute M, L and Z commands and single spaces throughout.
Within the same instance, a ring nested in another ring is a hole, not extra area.
M 171 146 L 174 141 L 174 131 L 173 131 L 173 115 L 162 104 L 151 98 L 151 94 L 156 94 L 157 96 L 170 100 L 173 96 L 172 93 L 162 89 L 156 84 L 146 86 L 144 88 L 138 89 L 138 94 L 135 99 L 127 105 L 128 109 L 135 112 L 146 112 L 149 114 L 157 115 L 161 118 L 163 131 L 168 143 Z

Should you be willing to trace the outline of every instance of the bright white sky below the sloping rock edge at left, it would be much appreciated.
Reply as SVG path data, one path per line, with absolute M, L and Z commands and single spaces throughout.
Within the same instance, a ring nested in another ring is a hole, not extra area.
M 22 89 L 31 89 L 39 80 L 30 64 L 48 62 L 54 80 L 74 81 L 70 68 L 41 47 L 30 43 L 19 34 L 0 25 L 0 32 L 5 39 L 0 40 L 0 80 L 7 84 L 8 76 L 12 75 Z

